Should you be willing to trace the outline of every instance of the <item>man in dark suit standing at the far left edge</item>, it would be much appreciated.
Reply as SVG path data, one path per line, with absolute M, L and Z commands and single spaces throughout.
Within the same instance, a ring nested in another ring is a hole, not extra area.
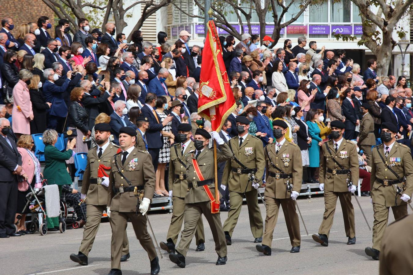
M 0 118 L 0 238 L 20 236 L 15 232 L 14 219 L 17 208 L 17 175 L 23 175 L 21 155 L 10 134 L 11 127 L 7 118 Z

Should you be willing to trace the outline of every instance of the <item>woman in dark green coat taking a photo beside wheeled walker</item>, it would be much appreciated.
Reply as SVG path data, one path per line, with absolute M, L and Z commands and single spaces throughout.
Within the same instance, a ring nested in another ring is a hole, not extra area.
M 67 142 L 66 151 L 60 152 L 55 147 L 57 142 L 57 132 L 53 129 L 48 129 L 43 133 L 43 143 L 45 144 L 45 169 L 43 178 L 47 179 L 47 185 L 57 184 L 59 193 L 62 193 L 64 184 L 72 184 L 72 179 L 66 169 L 66 160 L 72 156 L 73 147 L 76 144 L 76 139 Z M 47 212 L 47 209 L 46 209 Z M 59 217 L 49 218 L 47 216 L 47 231 L 59 230 Z

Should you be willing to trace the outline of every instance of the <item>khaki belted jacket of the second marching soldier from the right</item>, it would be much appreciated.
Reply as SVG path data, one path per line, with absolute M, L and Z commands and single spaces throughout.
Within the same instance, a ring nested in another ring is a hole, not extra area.
M 342 167 L 344 167 L 344 169 L 351 170 L 351 180 L 353 181 L 353 185 L 357 186 L 359 166 L 356 145 L 343 138 L 337 153 L 334 150 L 334 141 L 332 139 L 321 146 L 320 183 L 324 183 L 324 190 L 332 192 L 348 192 L 347 174 L 333 175 L 332 173 L 327 172 L 327 169 L 341 170 L 341 168 L 331 159 L 331 155 L 328 153 L 325 146 L 330 148 L 333 157 Z

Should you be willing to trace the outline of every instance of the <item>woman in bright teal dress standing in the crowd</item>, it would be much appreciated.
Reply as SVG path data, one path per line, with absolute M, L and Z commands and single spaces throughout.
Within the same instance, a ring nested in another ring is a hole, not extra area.
M 309 137 L 311 137 L 311 146 L 309 147 L 310 165 L 307 168 L 309 183 L 316 183 L 314 174 L 316 168 L 320 167 L 320 146 L 322 145 L 320 138 L 320 127 L 318 127 L 316 120 L 318 120 L 318 113 L 316 109 L 310 109 L 307 112 L 306 124 L 309 127 Z

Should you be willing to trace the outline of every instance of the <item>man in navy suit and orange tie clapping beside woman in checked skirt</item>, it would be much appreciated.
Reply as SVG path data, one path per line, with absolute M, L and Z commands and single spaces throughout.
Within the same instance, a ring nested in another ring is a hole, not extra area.
M 172 116 L 167 116 L 161 122 L 159 115 L 154 110 L 157 96 L 154 93 L 148 93 L 145 99 L 145 105 L 142 107 L 141 115 L 148 118 L 149 129 L 146 131 L 146 140 L 148 142 L 148 152 L 152 156 L 152 164 L 155 170 L 158 167 L 159 149 L 163 146 L 161 130 L 172 120 Z

